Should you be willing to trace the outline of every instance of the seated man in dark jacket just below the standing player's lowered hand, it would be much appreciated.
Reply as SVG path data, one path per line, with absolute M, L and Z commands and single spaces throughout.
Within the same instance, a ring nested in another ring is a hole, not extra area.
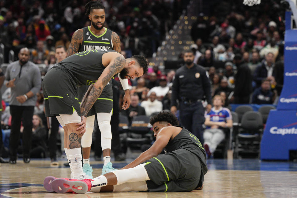
M 129 122 L 137 115 L 145 115 L 145 110 L 139 105 L 139 97 L 137 94 L 131 95 L 131 105 L 127 110 L 123 111 L 123 115 L 127 116 Z

